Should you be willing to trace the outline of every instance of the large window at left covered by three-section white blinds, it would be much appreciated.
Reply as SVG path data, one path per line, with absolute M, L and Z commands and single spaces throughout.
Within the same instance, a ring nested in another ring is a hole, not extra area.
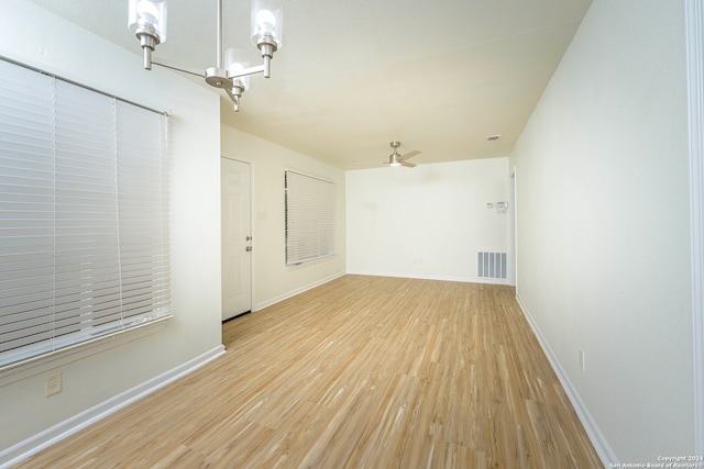
M 169 315 L 167 127 L 0 60 L 0 368 Z

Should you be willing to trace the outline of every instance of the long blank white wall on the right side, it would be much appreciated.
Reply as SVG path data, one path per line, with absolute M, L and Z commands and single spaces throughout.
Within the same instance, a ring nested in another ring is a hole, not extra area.
M 512 156 L 518 298 L 622 462 L 694 453 L 683 18 L 595 0 Z

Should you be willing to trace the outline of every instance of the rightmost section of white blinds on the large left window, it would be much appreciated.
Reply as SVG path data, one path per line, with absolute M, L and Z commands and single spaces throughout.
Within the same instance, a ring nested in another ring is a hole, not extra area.
M 117 103 L 120 256 L 125 324 L 170 301 L 166 116 Z

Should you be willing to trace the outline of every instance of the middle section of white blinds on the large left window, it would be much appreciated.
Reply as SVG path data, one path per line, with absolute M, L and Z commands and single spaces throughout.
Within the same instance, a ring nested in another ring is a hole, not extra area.
M 56 81 L 57 344 L 120 321 L 114 99 Z

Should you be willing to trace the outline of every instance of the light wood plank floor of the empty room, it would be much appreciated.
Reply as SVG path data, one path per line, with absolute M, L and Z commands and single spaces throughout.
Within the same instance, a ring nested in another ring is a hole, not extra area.
M 345 276 L 22 468 L 603 467 L 509 287 Z

